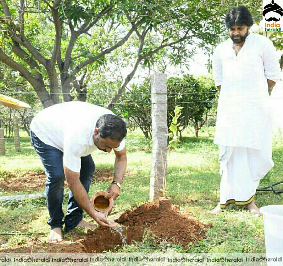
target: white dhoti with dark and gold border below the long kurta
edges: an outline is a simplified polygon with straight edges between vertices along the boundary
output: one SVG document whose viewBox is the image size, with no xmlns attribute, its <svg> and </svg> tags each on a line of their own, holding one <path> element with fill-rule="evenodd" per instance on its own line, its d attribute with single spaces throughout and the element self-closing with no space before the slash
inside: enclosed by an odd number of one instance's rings
<svg viewBox="0 0 283 266">
<path fill-rule="evenodd" d="M 260 150 L 219 145 L 221 208 L 252 202 L 259 181 L 274 166 L 270 124 L 268 119 Z"/>
</svg>

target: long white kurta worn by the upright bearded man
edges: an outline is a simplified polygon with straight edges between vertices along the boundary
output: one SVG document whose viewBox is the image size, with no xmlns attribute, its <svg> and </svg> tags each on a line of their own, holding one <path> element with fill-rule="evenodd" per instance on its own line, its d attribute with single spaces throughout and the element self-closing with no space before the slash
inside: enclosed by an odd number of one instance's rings
<svg viewBox="0 0 283 266">
<path fill-rule="evenodd" d="M 213 56 L 215 85 L 221 85 L 214 143 L 261 149 L 269 114 L 267 79 L 278 81 L 279 61 L 268 38 L 250 33 L 236 56 L 229 38 Z"/>
</svg>

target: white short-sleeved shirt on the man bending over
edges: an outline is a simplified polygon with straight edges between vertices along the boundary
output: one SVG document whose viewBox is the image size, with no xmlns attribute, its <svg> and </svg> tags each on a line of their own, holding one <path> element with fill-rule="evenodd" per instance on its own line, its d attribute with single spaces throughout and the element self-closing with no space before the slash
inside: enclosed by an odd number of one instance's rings
<svg viewBox="0 0 283 266">
<path fill-rule="evenodd" d="M 66 102 L 43 109 L 31 121 L 30 129 L 45 144 L 62 152 L 64 165 L 79 173 L 80 157 L 91 154 L 96 146 L 93 134 L 98 118 L 110 110 L 86 102 Z M 125 147 L 123 139 L 115 151 Z"/>
</svg>

